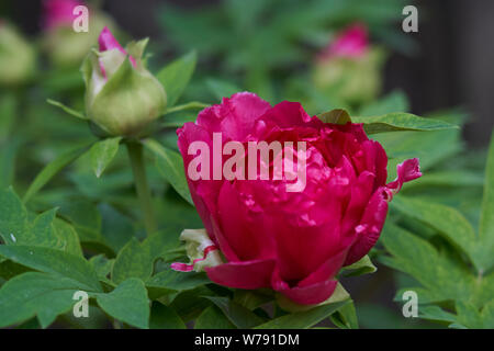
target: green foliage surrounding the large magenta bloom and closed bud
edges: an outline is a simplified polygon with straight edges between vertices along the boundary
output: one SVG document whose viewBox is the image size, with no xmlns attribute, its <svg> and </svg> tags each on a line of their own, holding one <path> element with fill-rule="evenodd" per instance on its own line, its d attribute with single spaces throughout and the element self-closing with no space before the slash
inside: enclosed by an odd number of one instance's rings
<svg viewBox="0 0 494 351">
<path fill-rule="evenodd" d="M 49 67 L 33 87 L 0 88 L 0 327 L 428 326 L 366 302 L 374 291 L 366 291 L 367 285 L 359 287 L 366 294 L 350 298 L 338 284 L 326 302 L 300 306 L 271 290 L 227 288 L 204 272 L 170 269 L 172 262 L 188 261 L 181 230 L 203 227 L 175 129 L 194 122 L 199 110 L 249 90 L 271 104 L 300 101 L 327 123 L 362 123 L 389 156 L 389 180 L 396 165 L 418 157 L 424 176 L 393 199 L 382 247 L 370 256 L 393 269 L 386 276 L 396 278 L 396 302 L 405 291 L 418 294 L 422 319 L 451 328 L 494 328 L 494 138 L 483 174 L 485 156 L 464 151 L 457 127 L 467 122 L 461 111 L 419 117 L 409 113 L 401 91 L 351 105 L 311 82 L 317 53 L 356 20 L 368 24 L 377 46 L 413 52 L 409 36 L 396 32 L 404 4 L 223 0 L 187 12 L 167 4 L 159 14 L 169 42 L 164 47 L 189 54 L 157 70 L 167 110 L 139 137 L 112 138 L 93 124 L 88 127 L 77 68 Z M 132 72 L 130 61 L 124 68 Z M 119 152 L 130 143 L 146 150 L 137 155 L 138 171 L 147 177 L 158 228 L 147 236 L 143 219 L 148 212 L 139 208 L 135 191 L 139 182 Z M 375 270 L 366 256 L 344 268 L 338 280 L 345 284 Z M 88 320 L 72 316 L 78 291 L 89 295 Z"/>
</svg>

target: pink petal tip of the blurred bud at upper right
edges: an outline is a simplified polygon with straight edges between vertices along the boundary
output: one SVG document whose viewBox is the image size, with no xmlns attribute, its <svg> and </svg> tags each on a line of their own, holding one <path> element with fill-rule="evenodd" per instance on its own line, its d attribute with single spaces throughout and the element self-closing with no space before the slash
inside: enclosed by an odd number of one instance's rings
<svg viewBox="0 0 494 351">
<path fill-rule="evenodd" d="M 358 58 L 364 55 L 368 48 L 367 26 L 362 23 L 355 23 L 337 35 L 336 39 L 322 53 L 321 58 Z"/>
</svg>

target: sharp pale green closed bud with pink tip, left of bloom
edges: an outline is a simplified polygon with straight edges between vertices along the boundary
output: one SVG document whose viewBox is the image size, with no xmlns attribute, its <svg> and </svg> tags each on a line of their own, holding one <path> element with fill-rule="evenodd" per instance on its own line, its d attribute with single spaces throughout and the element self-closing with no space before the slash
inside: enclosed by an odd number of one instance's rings
<svg viewBox="0 0 494 351">
<path fill-rule="evenodd" d="M 164 87 L 142 59 L 147 39 L 124 49 L 105 27 L 99 44 L 81 68 L 87 115 L 110 135 L 138 136 L 167 106 Z"/>
</svg>

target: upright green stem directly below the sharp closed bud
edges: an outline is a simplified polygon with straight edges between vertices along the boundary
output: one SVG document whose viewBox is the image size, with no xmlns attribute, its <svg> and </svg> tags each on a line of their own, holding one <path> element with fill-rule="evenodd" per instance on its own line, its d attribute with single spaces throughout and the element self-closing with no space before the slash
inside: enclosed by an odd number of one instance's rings
<svg viewBox="0 0 494 351">
<path fill-rule="evenodd" d="M 146 227 L 147 235 L 149 236 L 156 231 L 156 222 L 149 185 L 147 184 L 146 168 L 143 160 L 143 145 L 136 141 L 128 141 L 126 145 L 128 158 L 131 159 L 132 171 L 134 173 L 137 197 L 141 203 L 141 210 L 143 211 L 144 226 Z"/>
</svg>

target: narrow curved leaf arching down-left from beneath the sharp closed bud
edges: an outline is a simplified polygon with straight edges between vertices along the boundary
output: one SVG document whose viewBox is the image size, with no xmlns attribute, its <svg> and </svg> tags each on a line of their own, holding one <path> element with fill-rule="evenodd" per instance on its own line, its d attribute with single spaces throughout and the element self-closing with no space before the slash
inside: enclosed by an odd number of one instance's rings
<svg viewBox="0 0 494 351">
<path fill-rule="evenodd" d="M 92 144 L 92 143 L 91 143 Z M 43 170 L 36 176 L 34 181 L 31 183 L 30 188 L 22 199 L 23 203 L 29 202 L 44 185 L 46 185 L 49 180 L 55 177 L 61 169 L 76 160 L 89 148 L 89 145 L 83 145 L 82 147 L 75 148 L 68 152 L 58 156 L 55 160 L 49 162 L 43 168 Z"/>
</svg>

